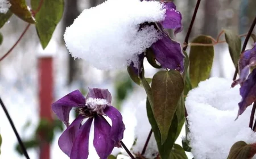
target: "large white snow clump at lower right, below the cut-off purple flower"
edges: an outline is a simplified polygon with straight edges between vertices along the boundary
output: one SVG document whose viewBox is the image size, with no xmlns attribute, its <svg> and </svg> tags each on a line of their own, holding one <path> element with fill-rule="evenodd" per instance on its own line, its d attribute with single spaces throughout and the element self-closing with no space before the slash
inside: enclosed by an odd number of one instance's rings
<svg viewBox="0 0 256 159">
<path fill-rule="evenodd" d="M 188 93 L 188 137 L 195 158 L 226 159 L 237 141 L 256 143 L 256 133 L 249 128 L 251 106 L 234 121 L 241 96 L 239 87 L 230 88 L 231 83 L 212 77 Z"/>
</svg>

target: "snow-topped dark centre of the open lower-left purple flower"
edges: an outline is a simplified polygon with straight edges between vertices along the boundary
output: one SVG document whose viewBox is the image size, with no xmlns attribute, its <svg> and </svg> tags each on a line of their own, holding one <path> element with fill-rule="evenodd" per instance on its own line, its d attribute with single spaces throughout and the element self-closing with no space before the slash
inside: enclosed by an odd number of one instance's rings
<svg viewBox="0 0 256 159">
<path fill-rule="evenodd" d="M 88 98 L 86 100 L 85 106 L 81 106 L 77 108 L 76 112 L 79 115 L 84 116 L 85 118 L 90 118 L 94 115 L 105 115 L 104 109 L 108 105 L 108 101 L 106 99 L 99 98 Z"/>
</svg>

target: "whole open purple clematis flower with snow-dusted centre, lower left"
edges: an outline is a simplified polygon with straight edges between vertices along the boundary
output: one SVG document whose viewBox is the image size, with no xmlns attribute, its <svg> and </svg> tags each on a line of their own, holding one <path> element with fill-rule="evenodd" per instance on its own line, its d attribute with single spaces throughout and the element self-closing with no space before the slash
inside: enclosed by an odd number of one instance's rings
<svg viewBox="0 0 256 159">
<path fill-rule="evenodd" d="M 89 88 L 86 98 L 79 90 L 75 90 L 52 104 L 53 112 L 67 125 L 59 138 L 59 147 L 71 159 L 88 158 L 89 133 L 93 119 L 93 145 L 98 156 L 107 159 L 114 147 L 121 147 L 125 125 L 120 112 L 110 105 L 111 99 L 107 89 Z M 69 125 L 69 112 L 72 107 L 76 107 L 79 116 Z M 112 126 L 103 115 L 112 120 Z M 88 119 L 81 124 L 85 118 Z"/>
</svg>

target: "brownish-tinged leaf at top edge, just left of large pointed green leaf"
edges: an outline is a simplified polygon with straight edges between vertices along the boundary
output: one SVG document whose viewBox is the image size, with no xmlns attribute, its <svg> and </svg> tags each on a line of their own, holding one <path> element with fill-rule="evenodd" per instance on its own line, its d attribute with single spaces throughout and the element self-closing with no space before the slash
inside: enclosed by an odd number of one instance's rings
<svg viewBox="0 0 256 159">
<path fill-rule="evenodd" d="M 11 3 L 10 10 L 18 16 L 20 19 L 24 20 L 28 23 L 35 23 L 35 19 L 33 18 L 30 10 L 28 10 L 28 6 L 26 0 L 9 0 Z"/>
</svg>

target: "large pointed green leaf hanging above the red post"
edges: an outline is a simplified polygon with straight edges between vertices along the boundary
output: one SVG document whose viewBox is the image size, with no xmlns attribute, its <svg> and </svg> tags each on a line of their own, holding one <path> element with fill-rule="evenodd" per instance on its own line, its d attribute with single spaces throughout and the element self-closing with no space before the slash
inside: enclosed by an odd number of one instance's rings
<svg viewBox="0 0 256 159">
<path fill-rule="evenodd" d="M 40 0 L 31 0 L 33 10 L 39 6 Z M 52 34 L 60 22 L 64 11 L 64 0 L 44 0 L 40 11 L 36 14 L 36 31 L 43 49 L 47 47 Z"/>
</svg>

